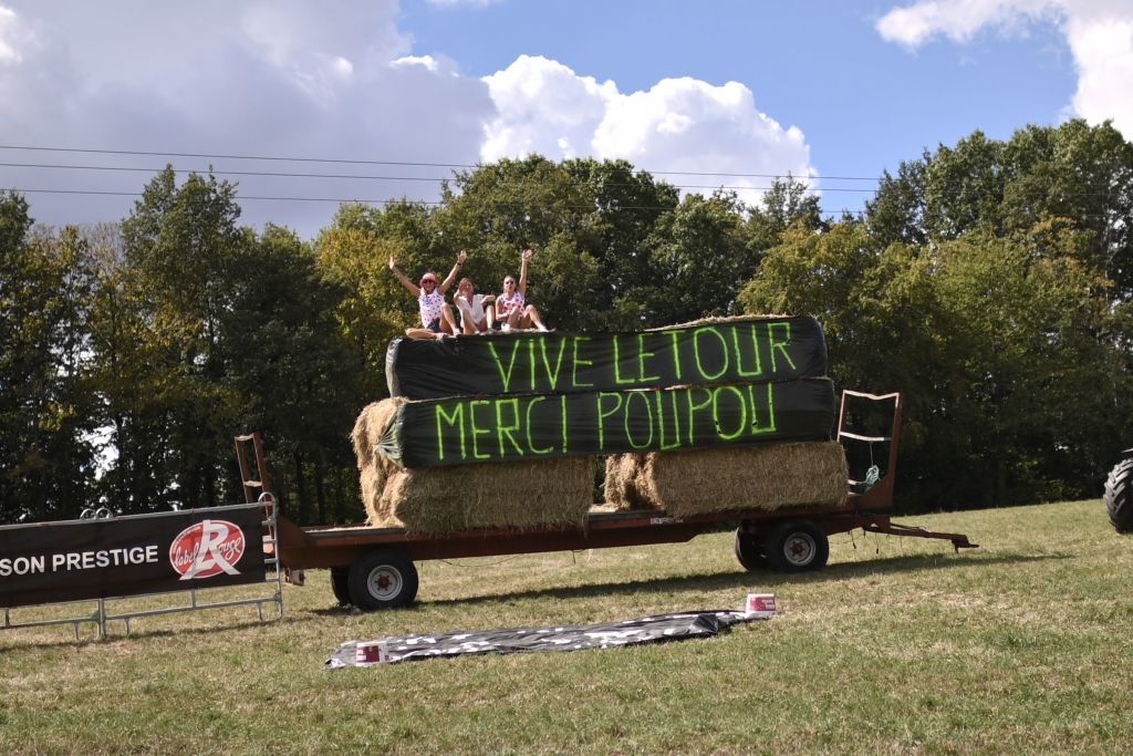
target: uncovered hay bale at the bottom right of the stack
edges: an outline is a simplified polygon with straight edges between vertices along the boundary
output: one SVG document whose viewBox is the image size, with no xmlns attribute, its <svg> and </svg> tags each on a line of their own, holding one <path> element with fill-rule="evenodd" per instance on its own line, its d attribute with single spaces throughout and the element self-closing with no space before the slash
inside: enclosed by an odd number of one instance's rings
<svg viewBox="0 0 1133 756">
<path fill-rule="evenodd" d="M 622 475 L 625 469 L 621 470 Z M 673 517 L 784 507 L 842 507 L 849 468 L 836 441 L 654 452 L 632 490 Z"/>
</svg>

